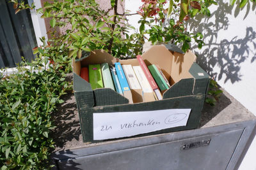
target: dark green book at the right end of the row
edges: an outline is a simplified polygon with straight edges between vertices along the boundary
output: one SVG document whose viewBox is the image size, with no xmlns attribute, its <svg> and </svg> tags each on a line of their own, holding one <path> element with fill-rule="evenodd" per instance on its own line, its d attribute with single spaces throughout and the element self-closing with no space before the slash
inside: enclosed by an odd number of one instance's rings
<svg viewBox="0 0 256 170">
<path fill-rule="evenodd" d="M 157 67 L 154 64 L 148 66 L 148 69 L 149 69 L 150 73 L 152 74 L 154 80 L 157 83 L 157 86 L 159 87 L 159 89 L 161 91 L 169 89 L 167 83 L 164 81 L 163 76 L 161 75 L 161 73 L 159 72 L 159 70 L 157 69 Z"/>
</svg>

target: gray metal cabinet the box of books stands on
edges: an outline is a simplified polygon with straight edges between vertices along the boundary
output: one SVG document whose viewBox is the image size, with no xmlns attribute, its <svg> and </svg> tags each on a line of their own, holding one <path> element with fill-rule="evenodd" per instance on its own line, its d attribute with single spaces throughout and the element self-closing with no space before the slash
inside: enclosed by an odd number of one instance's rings
<svg viewBox="0 0 256 170">
<path fill-rule="evenodd" d="M 227 96 L 230 103 L 214 109 L 218 114 L 209 117 L 204 110 L 202 118 L 211 120 L 199 129 L 94 144 L 81 142 L 80 135 L 52 154 L 54 168 L 237 169 L 255 135 L 256 120 Z"/>
</svg>

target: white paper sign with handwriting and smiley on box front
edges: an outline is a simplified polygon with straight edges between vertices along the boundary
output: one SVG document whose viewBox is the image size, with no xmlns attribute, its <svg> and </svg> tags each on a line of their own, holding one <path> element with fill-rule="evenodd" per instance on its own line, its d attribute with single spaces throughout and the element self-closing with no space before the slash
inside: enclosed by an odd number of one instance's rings
<svg viewBox="0 0 256 170">
<path fill-rule="evenodd" d="M 93 113 L 93 139 L 113 139 L 185 126 L 191 109 Z"/>
</svg>

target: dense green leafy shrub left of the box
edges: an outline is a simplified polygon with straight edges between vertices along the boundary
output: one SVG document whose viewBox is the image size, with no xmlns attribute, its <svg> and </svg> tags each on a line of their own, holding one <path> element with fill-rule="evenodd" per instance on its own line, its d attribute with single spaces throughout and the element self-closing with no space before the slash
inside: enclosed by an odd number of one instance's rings
<svg viewBox="0 0 256 170">
<path fill-rule="evenodd" d="M 46 61 L 45 61 L 46 62 Z M 21 66 L 28 65 L 22 63 Z M 0 78 L 1 169 L 44 169 L 54 142 L 51 112 L 69 88 L 65 74 L 45 69 L 42 61 L 17 67 Z"/>
</svg>

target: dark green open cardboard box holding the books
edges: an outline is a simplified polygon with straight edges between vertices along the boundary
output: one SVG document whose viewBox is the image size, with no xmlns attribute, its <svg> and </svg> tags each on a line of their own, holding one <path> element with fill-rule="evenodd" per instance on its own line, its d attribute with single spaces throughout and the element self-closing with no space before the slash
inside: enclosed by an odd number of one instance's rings
<svg viewBox="0 0 256 170">
<path fill-rule="evenodd" d="M 184 54 L 172 52 L 165 46 L 157 45 L 152 46 L 147 52 L 143 53 L 141 57 L 147 66 L 150 64 L 159 65 L 163 70 L 166 78 L 170 81 L 171 87 L 163 93 L 163 100 L 129 104 L 128 99 L 112 89 L 104 88 L 92 90 L 90 83 L 83 80 L 83 78 L 79 76 L 79 73 L 81 67 L 88 66 L 88 64 L 101 64 L 108 62 L 109 66 L 113 66 L 113 64 L 116 62 L 116 59 L 104 50 L 95 50 L 94 52 L 90 53 L 90 56 L 83 57 L 77 61 L 73 61 L 72 67 L 74 72 L 74 93 L 76 96 L 77 109 L 79 110 L 80 125 L 84 142 L 101 141 L 99 138 L 95 138 L 95 134 L 97 133 L 95 133 L 96 127 L 94 126 L 97 123 L 95 120 L 93 120 L 93 117 L 95 119 L 102 113 L 108 113 L 110 116 L 111 113 L 118 113 L 120 115 L 123 113 L 124 115 L 133 115 L 132 113 L 136 113 L 138 114 L 138 117 L 140 117 L 144 114 L 145 111 L 148 111 L 147 114 L 149 115 L 159 113 L 159 117 L 161 117 L 161 114 L 164 110 L 179 111 L 182 109 L 191 109 L 189 111 L 188 120 L 186 120 L 186 124 L 184 125 L 178 125 L 177 127 L 174 125 L 170 128 L 162 127 L 163 129 L 150 132 L 141 131 L 142 134 L 138 132 L 139 134 L 136 135 L 131 135 L 131 133 L 125 136 L 125 134 L 122 134 L 123 136 L 120 135 L 120 138 L 129 136 L 147 136 L 150 134 L 182 131 L 186 129 L 195 129 L 198 127 L 202 108 L 204 105 L 205 94 L 207 93 L 207 88 L 209 86 L 209 75 L 205 73 L 205 71 L 200 66 L 198 66 L 198 64 L 196 64 L 195 54 L 193 54 L 191 51 Z M 121 64 L 139 66 L 137 59 L 119 60 L 119 62 Z M 121 119 L 116 119 L 117 117 L 114 115 L 115 114 L 113 114 L 113 122 L 122 122 Z M 102 119 L 103 118 L 104 117 L 102 117 Z M 132 116 L 130 118 L 132 119 Z M 130 126 L 132 127 L 132 125 L 136 128 L 140 127 L 141 125 L 140 129 L 149 128 L 147 127 L 148 124 L 141 122 L 139 124 L 139 122 L 136 122 L 135 119 L 131 125 L 127 125 L 127 128 Z M 150 122 L 149 125 L 152 125 L 152 122 Z M 121 124 L 121 128 L 124 128 L 124 124 Z M 115 131 L 114 129 L 114 127 L 106 124 L 106 127 L 103 127 L 102 125 L 101 130 L 109 130 L 106 133 L 115 133 L 116 129 Z M 131 131 L 131 129 L 132 128 L 130 128 L 129 131 Z M 133 131 L 137 130 L 134 128 Z M 116 133 L 119 132 L 116 131 Z M 109 139 L 116 138 L 118 137 L 109 137 Z M 102 137 L 102 139 L 105 140 L 108 139 L 108 137 Z"/>
</svg>

